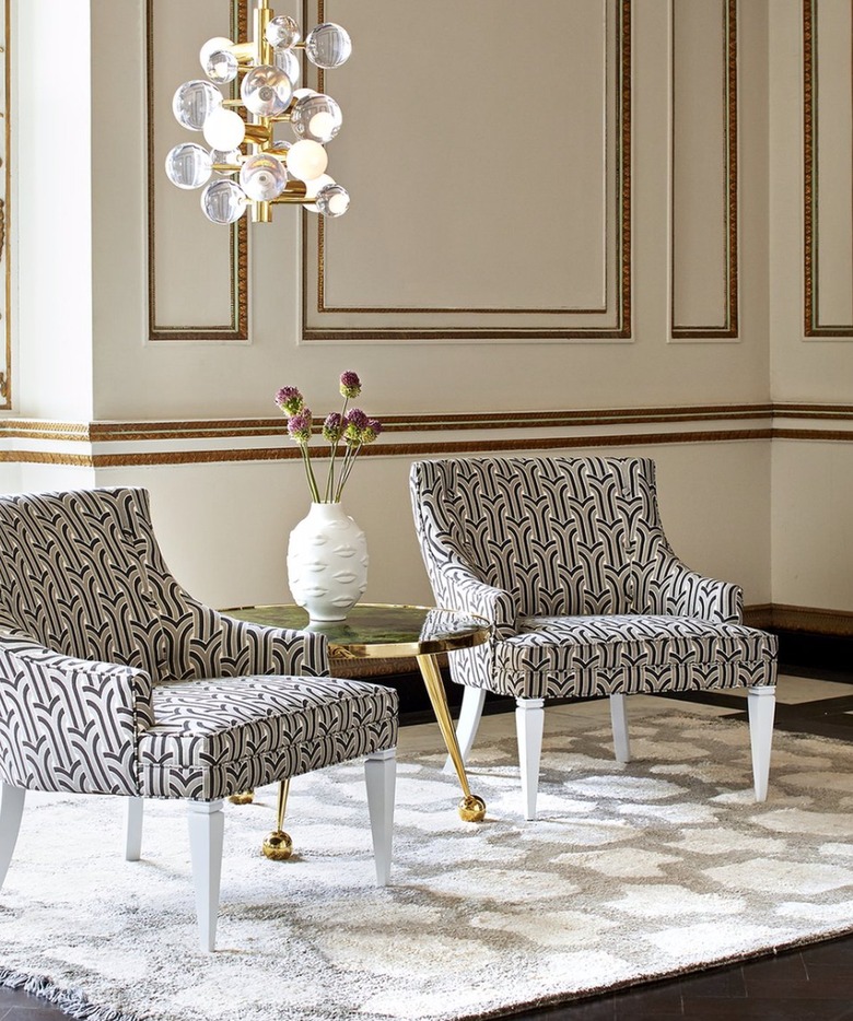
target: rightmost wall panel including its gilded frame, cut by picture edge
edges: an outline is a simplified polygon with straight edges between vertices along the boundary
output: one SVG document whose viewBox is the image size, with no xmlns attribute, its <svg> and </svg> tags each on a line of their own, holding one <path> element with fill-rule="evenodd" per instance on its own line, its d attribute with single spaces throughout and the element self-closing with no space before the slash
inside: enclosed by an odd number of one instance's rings
<svg viewBox="0 0 853 1021">
<path fill-rule="evenodd" d="M 803 0 L 806 337 L 853 337 L 853 11 Z"/>
</svg>

